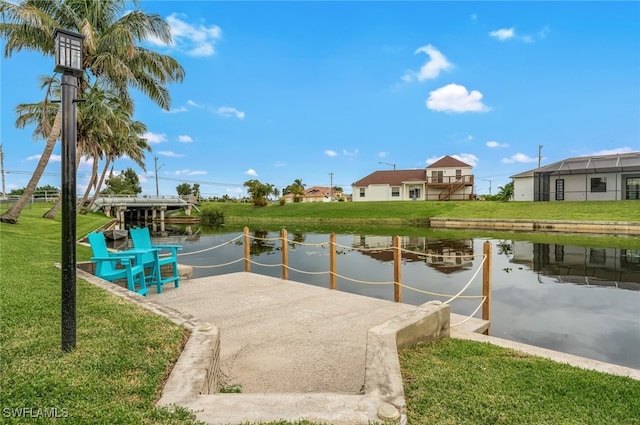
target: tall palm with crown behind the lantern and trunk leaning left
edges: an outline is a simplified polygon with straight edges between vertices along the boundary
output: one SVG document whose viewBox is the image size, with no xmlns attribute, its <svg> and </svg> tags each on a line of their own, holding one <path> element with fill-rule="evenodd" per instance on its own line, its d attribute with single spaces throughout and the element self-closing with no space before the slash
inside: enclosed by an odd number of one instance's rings
<svg viewBox="0 0 640 425">
<path fill-rule="evenodd" d="M 138 43 L 155 38 L 171 42 L 171 30 L 157 14 L 128 11 L 137 1 L 128 0 L 0 0 L 0 37 L 6 40 L 5 57 L 22 49 L 44 55 L 54 53 L 56 28 L 77 31 L 83 39 L 83 68 L 79 93 L 89 80 L 113 89 L 124 102 L 131 102 L 130 88 L 146 94 L 163 109 L 169 109 L 171 97 L 165 87 L 181 82 L 184 70 L 170 56 L 144 49 Z M 60 137 L 59 117 L 46 134 L 47 144 L 25 192 L 0 221 L 16 223 L 33 194 Z"/>
</svg>

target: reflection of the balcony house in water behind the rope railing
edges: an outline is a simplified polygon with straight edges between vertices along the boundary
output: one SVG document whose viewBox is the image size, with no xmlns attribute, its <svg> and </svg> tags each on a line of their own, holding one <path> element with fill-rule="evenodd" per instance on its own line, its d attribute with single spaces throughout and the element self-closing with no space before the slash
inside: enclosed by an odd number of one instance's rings
<svg viewBox="0 0 640 425">
<path fill-rule="evenodd" d="M 442 240 L 419 236 L 401 236 L 400 246 L 403 249 L 402 261 L 424 262 L 442 273 L 450 274 L 469 270 L 473 266 L 473 239 Z M 359 252 L 375 260 L 393 261 L 393 238 L 391 236 L 354 236 L 353 247 L 367 249 Z M 380 250 L 375 248 L 380 248 Z"/>
</svg>

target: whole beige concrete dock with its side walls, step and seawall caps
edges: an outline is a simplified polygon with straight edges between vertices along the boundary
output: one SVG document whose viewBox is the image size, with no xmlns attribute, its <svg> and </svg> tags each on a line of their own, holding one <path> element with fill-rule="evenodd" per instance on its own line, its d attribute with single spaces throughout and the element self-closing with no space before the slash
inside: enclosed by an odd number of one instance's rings
<svg viewBox="0 0 640 425">
<path fill-rule="evenodd" d="M 159 404 L 187 407 L 208 424 L 404 423 L 398 347 L 449 336 L 450 323 L 462 321 L 448 306 L 394 303 L 252 273 L 183 280 L 147 297 L 78 273 L 192 330 Z M 640 379 L 633 369 L 476 333 L 486 325 L 471 319 L 450 334 Z M 241 393 L 216 393 L 232 388 Z"/>
</svg>

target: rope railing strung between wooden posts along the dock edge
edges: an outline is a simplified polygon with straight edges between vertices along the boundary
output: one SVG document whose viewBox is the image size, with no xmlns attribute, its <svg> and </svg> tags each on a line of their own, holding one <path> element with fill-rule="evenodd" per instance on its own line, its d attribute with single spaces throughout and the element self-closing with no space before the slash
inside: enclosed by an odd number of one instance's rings
<svg viewBox="0 0 640 425">
<path fill-rule="evenodd" d="M 329 288 L 330 289 L 336 289 L 337 288 L 337 279 L 342 279 L 344 281 L 347 282 L 353 282 L 353 283 L 357 283 L 357 284 L 362 284 L 362 285 L 393 285 L 394 287 L 394 301 L 396 302 L 402 302 L 402 289 L 406 288 L 408 290 L 417 292 L 417 293 L 421 293 L 421 294 L 425 294 L 425 295 L 429 295 L 429 296 L 434 296 L 434 297 L 439 297 L 439 298 L 446 298 L 445 301 L 442 301 L 443 304 L 451 304 L 453 301 L 457 300 L 457 299 L 481 299 L 480 304 L 475 308 L 475 310 L 468 315 L 464 320 L 462 320 L 459 323 L 453 324 L 451 325 L 453 326 L 458 326 L 461 325 L 465 322 L 467 322 L 468 320 L 470 320 L 472 317 L 474 317 L 476 315 L 476 313 L 478 313 L 478 311 L 480 309 L 482 309 L 482 319 L 483 320 L 487 320 L 490 321 L 491 320 L 491 243 L 490 242 L 485 242 L 484 246 L 483 246 L 483 253 L 482 254 L 433 254 L 433 253 L 427 253 L 427 252 L 421 252 L 421 251 L 413 251 L 413 250 L 409 250 L 406 248 L 403 248 L 401 246 L 400 243 L 400 237 L 399 236 L 395 236 L 393 238 L 393 246 L 391 247 L 375 247 L 375 248 L 366 248 L 366 247 L 354 247 L 354 246 L 346 246 L 346 245 L 341 245 L 338 244 L 336 242 L 336 235 L 335 233 L 332 233 L 330 235 L 330 240 L 329 242 L 321 242 L 321 243 L 306 243 L 306 242 L 301 242 L 301 241 L 295 241 L 295 240 L 289 240 L 288 238 L 288 234 L 287 234 L 287 230 L 286 229 L 282 229 L 281 234 L 279 237 L 275 237 L 275 238 L 268 238 L 268 237 L 262 237 L 262 236 L 252 236 L 249 233 L 249 228 L 245 227 L 244 228 L 244 232 L 242 235 L 239 235 L 235 238 L 232 238 L 228 241 L 222 242 L 216 246 L 213 247 L 209 247 L 209 248 L 205 248 L 205 249 L 201 249 L 198 251 L 192 251 L 192 252 L 187 252 L 187 253 L 182 253 L 182 254 L 178 254 L 181 256 L 186 256 L 186 255 L 193 255 L 193 254 L 200 254 L 203 252 L 207 252 L 207 251 L 212 251 L 215 249 L 220 249 L 223 248 L 227 245 L 229 245 L 230 243 L 233 243 L 235 241 L 238 241 L 240 239 L 243 239 L 242 245 L 244 245 L 244 255 L 243 257 L 237 259 L 237 260 L 233 260 L 224 264 L 217 264 L 217 265 L 207 265 L 207 266 L 197 266 L 197 265 L 191 265 L 191 267 L 194 268 L 216 268 L 216 267 L 224 267 L 224 266 L 228 266 L 228 265 L 232 265 L 232 264 L 236 264 L 238 262 L 244 261 L 245 264 L 245 271 L 246 272 L 251 272 L 251 265 L 256 265 L 256 266 L 260 266 L 260 267 L 281 267 L 282 268 L 282 279 L 284 280 L 288 280 L 289 278 L 289 271 L 294 271 L 297 273 L 301 273 L 301 274 L 306 274 L 306 275 L 323 275 L 323 274 L 328 274 L 329 275 Z M 282 259 L 281 262 L 278 264 L 266 264 L 266 263 L 261 263 L 258 261 L 255 261 L 254 259 L 251 258 L 251 247 L 252 247 L 252 242 L 254 241 L 260 241 L 260 242 L 273 242 L 274 244 L 276 242 L 280 242 L 281 244 L 281 255 L 282 255 Z M 238 243 L 239 245 L 239 243 Z M 312 272 L 312 271 L 305 271 L 305 270 L 299 270 L 296 269 L 294 267 L 291 267 L 289 265 L 289 246 L 296 246 L 296 245 L 300 245 L 300 246 L 306 246 L 306 247 L 321 247 L 321 248 L 328 248 L 329 249 L 329 270 L 328 271 L 318 271 L 318 272 Z M 294 248 L 295 249 L 295 248 Z M 339 273 L 337 273 L 337 261 L 336 261 L 336 252 L 337 250 L 340 249 L 342 251 L 348 250 L 348 251 L 358 251 L 358 252 L 387 252 L 387 251 L 393 251 L 393 280 L 392 281 L 368 281 L 368 280 L 361 280 L 361 279 L 356 279 L 353 277 L 348 277 L 348 276 L 343 276 Z M 438 258 L 438 259 L 451 259 L 451 258 L 455 258 L 456 260 L 460 259 L 461 261 L 465 261 L 465 260 L 472 260 L 475 258 L 482 258 L 482 261 L 480 262 L 479 266 L 476 268 L 476 270 L 474 271 L 473 275 L 471 276 L 471 278 L 469 279 L 469 281 L 462 287 L 462 289 L 460 289 L 457 293 L 455 294 L 443 294 L 443 293 L 437 293 L 437 292 L 433 292 L 433 291 L 427 291 L 424 289 L 420 289 L 415 287 L 415 285 L 408 285 L 407 283 L 404 283 L 402 281 L 402 263 L 403 263 L 403 254 L 405 255 L 413 255 L 413 256 L 419 256 L 419 257 L 424 257 L 424 258 Z M 480 272 L 482 272 L 482 295 L 463 295 L 466 291 L 469 290 L 469 287 L 471 286 L 471 284 L 476 280 L 476 278 L 478 277 L 478 275 L 480 274 Z M 485 331 L 485 333 L 488 333 L 488 330 Z"/>
</svg>

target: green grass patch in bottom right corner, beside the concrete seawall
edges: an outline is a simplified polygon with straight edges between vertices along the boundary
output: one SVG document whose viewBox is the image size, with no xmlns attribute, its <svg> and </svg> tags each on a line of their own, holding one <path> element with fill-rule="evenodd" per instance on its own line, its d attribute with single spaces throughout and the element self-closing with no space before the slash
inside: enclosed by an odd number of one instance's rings
<svg viewBox="0 0 640 425">
<path fill-rule="evenodd" d="M 640 424 L 640 381 L 487 343 L 400 353 L 410 424 Z"/>
</svg>

